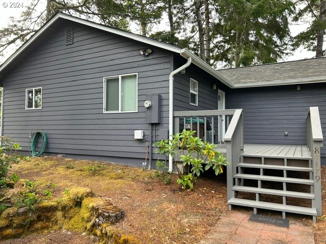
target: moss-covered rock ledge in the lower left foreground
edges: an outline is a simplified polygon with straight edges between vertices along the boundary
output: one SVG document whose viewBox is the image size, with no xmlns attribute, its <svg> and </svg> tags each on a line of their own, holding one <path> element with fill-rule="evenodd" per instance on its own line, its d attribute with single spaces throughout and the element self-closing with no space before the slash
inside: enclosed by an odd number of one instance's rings
<svg viewBox="0 0 326 244">
<path fill-rule="evenodd" d="M 105 198 L 92 195 L 89 188 L 74 187 L 65 197 L 35 204 L 33 210 L 10 207 L 0 216 L 0 239 L 63 227 L 87 231 L 105 241 L 103 243 L 139 243 L 113 227 L 124 218 L 124 210 Z"/>
</svg>

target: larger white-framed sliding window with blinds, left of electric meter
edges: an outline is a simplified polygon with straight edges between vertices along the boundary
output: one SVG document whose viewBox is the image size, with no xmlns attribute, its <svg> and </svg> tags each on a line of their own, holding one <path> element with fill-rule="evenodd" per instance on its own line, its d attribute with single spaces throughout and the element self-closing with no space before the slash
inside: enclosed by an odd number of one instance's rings
<svg viewBox="0 0 326 244">
<path fill-rule="evenodd" d="M 137 74 L 104 77 L 104 113 L 137 112 Z"/>
</svg>

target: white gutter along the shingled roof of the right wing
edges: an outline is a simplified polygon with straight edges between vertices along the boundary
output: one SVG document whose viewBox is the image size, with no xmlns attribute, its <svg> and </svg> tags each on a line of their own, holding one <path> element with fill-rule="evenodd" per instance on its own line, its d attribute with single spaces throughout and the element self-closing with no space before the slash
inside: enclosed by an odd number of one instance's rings
<svg viewBox="0 0 326 244">
<path fill-rule="evenodd" d="M 243 83 L 234 84 L 232 88 L 250 88 L 250 87 L 263 87 L 263 86 L 278 86 L 278 85 L 298 85 L 298 84 L 309 84 L 309 83 L 322 83 L 326 82 L 326 76 L 321 77 L 309 77 L 300 79 L 289 79 L 289 80 L 275 80 L 266 82 L 255 82 L 255 83 Z"/>
</svg>

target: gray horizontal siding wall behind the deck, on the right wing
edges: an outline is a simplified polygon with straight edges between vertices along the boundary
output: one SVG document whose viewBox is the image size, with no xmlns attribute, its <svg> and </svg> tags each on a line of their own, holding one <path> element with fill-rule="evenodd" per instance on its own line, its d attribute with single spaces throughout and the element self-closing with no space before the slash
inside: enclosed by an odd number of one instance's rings
<svg viewBox="0 0 326 244">
<path fill-rule="evenodd" d="M 243 108 L 245 143 L 306 144 L 311 106 L 319 107 L 326 138 L 325 83 L 303 84 L 299 91 L 296 85 L 229 89 L 226 99 L 227 108 Z M 321 154 L 326 157 L 326 146 Z"/>
</svg>

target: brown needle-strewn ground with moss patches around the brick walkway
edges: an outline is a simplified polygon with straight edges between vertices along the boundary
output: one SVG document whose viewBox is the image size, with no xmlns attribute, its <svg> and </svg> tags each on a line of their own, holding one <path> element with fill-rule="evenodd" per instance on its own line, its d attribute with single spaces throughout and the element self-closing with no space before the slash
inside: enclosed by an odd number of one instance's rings
<svg viewBox="0 0 326 244">
<path fill-rule="evenodd" d="M 172 175 L 171 185 L 165 185 L 154 171 L 95 161 L 41 157 L 21 162 L 12 171 L 21 178 L 35 180 L 41 189 L 56 184 L 51 190 L 52 198 L 73 186 L 91 188 L 96 196 L 108 198 L 125 210 L 126 217 L 117 228 L 144 244 L 198 243 L 228 208 L 225 174 L 218 177 L 206 174 L 198 179 L 194 191 L 183 191 L 176 185 L 176 175 Z M 325 171 L 323 167 L 322 189 L 326 189 Z M 322 201 L 326 214 L 324 190 Z M 312 224 L 310 217 L 288 215 L 287 218 Z M 313 226 L 316 243 L 326 243 L 326 216 L 318 217 Z M 0 243 L 86 244 L 97 240 L 83 232 L 49 230 Z"/>
</svg>

